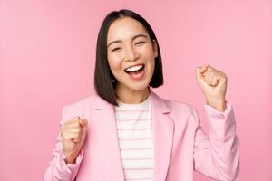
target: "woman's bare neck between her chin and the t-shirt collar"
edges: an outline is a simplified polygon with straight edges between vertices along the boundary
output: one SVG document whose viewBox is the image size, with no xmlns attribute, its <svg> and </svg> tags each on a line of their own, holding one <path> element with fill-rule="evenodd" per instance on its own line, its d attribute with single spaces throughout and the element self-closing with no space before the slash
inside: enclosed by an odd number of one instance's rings
<svg viewBox="0 0 272 181">
<path fill-rule="evenodd" d="M 144 90 L 130 90 L 116 86 L 118 100 L 127 104 L 139 104 L 146 100 L 150 95 L 150 89 L 147 87 Z"/>
</svg>

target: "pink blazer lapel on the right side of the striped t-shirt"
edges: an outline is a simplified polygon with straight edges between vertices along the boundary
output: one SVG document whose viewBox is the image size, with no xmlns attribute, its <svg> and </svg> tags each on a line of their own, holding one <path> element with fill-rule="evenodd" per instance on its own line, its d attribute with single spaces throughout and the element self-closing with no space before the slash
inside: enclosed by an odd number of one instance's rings
<svg viewBox="0 0 272 181">
<path fill-rule="evenodd" d="M 155 153 L 154 180 L 165 181 L 170 164 L 174 123 L 164 100 L 152 91 L 151 106 Z"/>
</svg>

